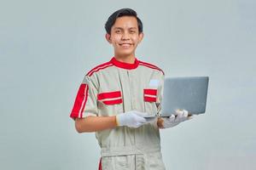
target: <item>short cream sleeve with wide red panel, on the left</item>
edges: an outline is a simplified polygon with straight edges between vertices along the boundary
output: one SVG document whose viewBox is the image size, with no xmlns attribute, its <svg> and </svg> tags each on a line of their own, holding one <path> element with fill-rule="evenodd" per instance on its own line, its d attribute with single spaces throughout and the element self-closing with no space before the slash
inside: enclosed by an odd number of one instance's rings
<svg viewBox="0 0 256 170">
<path fill-rule="evenodd" d="M 98 116 L 97 93 L 96 85 L 90 77 L 85 76 L 79 86 L 70 117 L 75 120 L 77 117 Z"/>
</svg>

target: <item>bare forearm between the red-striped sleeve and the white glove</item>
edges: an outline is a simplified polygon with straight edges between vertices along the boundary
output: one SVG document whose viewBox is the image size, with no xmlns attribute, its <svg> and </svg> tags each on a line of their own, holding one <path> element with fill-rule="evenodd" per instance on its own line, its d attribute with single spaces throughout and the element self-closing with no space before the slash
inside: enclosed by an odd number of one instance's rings
<svg viewBox="0 0 256 170">
<path fill-rule="evenodd" d="M 116 116 L 87 116 L 75 119 L 78 133 L 89 133 L 117 127 Z"/>
</svg>

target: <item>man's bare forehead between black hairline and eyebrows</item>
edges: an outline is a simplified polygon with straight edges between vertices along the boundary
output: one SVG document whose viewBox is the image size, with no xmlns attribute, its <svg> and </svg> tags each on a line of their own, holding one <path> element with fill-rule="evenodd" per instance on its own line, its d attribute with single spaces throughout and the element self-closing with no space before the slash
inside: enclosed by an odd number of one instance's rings
<svg viewBox="0 0 256 170">
<path fill-rule="evenodd" d="M 122 16 L 115 20 L 113 26 L 113 29 L 117 28 L 123 28 L 123 29 L 130 29 L 130 28 L 136 28 L 137 26 L 137 19 L 134 16 Z"/>
</svg>

